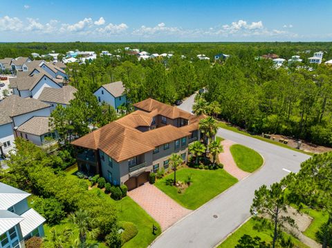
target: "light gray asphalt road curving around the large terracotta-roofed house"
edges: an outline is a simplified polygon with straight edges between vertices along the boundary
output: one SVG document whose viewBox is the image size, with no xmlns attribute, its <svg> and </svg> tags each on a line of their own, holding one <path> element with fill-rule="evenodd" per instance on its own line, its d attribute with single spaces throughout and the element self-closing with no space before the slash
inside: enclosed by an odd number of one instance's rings
<svg viewBox="0 0 332 248">
<path fill-rule="evenodd" d="M 191 111 L 193 96 L 180 108 Z M 299 171 L 299 164 L 308 155 L 263 142 L 246 135 L 219 128 L 217 135 L 255 149 L 265 159 L 265 165 L 235 184 L 210 202 L 196 209 L 163 232 L 151 244 L 154 248 L 214 247 L 250 217 L 249 209 L 255 189 L 281 180 L 289 171 Z M 215 218 L 216 217 L 216 218 Z"/>
</svg>

